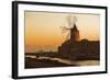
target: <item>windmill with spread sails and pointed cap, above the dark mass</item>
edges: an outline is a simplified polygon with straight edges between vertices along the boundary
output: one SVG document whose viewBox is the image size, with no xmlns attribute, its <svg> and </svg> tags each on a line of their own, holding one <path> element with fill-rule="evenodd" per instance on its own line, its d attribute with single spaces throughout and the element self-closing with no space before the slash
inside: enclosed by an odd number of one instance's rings
<svg viewBox="0 0 110 80">
<path fill-rule="evenodd" d="M 69 37 L 72 42 L 78 41 L 79 31 L 77 30 L 77 26 L 76 26 L 77 18 L 68 15 L 66 20 L 67 20 L 68 27 L 61 26 L 62 33 L 67 33 L 65 41 L 67 41 Z"/>
</svg>

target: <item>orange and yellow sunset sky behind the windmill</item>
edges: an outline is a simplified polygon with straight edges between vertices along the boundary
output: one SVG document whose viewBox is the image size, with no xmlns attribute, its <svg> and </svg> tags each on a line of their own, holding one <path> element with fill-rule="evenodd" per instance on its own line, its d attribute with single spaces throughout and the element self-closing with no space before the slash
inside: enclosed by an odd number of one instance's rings
<svg viewBox="0 0 110 80">
<path fill-rule="evenodd" d="M 61 26 L 69 27 L 66 18 L 69 13 L 25 11 L 25 53 L 38 50 L 57 50 L 65 41 L 67 33 L 62 33 Z M 99 41 L 100 15 L 77 14 L 77 28 L 80 39 Z"/>
</svg>

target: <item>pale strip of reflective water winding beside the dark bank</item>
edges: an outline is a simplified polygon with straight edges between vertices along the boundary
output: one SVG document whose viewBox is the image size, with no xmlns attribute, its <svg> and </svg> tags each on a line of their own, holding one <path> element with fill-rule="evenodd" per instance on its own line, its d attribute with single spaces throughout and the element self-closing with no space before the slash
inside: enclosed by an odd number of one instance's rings
<svg viewBox="0 0 110 80">
<path fill-rule="evenodd" d="M 59 62 L 63 64 L 67 64 L 67 65 L 78 65 L 78 66 L 97 66 L 100 65 L 99 60 L 78 60 L 78 61 L 74 61 L 74 60 L 69 60 L 69 59 L 62 59 L 62 58 L 51 58 L 51 57 L 36 57 L 36 56 L 26 56 L 30 58 L 36 58 L 36 59 L 50 59 L 50 60 L 57 60 Z"/>
</svg>

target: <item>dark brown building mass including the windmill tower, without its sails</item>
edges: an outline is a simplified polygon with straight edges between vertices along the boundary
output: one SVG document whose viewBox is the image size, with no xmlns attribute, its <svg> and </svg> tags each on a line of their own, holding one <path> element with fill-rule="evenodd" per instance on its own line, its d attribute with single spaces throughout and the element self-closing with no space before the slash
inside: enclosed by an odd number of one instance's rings
<svg viewBox="0 0 110 80">
<path fill-rule="evenodd" d="M 80 39 L 76 24 L 70 28 L 70 39 L 65 41 L 58 47 L 61 57 L 74 60 L 99 59 L 99 41 Z"/>
</svg>

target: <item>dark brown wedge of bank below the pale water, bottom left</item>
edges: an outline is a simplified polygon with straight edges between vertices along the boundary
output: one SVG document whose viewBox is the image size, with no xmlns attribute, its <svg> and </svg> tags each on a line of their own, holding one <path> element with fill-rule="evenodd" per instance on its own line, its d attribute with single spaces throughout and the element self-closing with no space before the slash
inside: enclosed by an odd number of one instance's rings
<svg viewBox="0 0 110 80">
<path fill-rule="evenodd" d="M 25 58 L 25 68 L 48 68 L 48 67 L 70 67 L 76 65 L 67 65 L 57 60 Z"/>
</svg>

